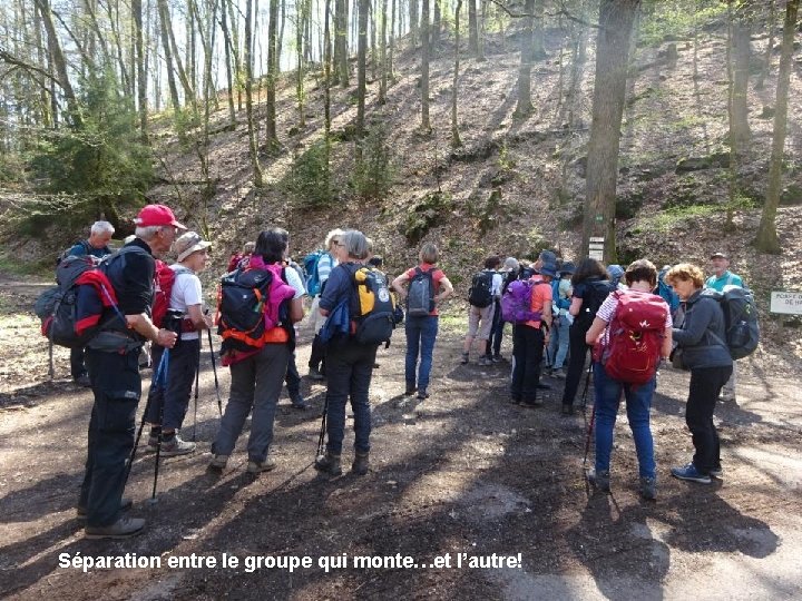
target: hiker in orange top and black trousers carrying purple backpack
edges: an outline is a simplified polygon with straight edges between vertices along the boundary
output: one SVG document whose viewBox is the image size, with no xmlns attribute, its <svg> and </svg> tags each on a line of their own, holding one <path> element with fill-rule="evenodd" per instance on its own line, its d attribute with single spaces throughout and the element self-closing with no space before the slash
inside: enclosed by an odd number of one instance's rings
<svg viewBox="0 0 802 601">
<path fill-rule="evenodd" d="M 542 405 L 537 397 L 540 383 L 540 363 L 544 345 L 549 341 L 551 326 L 551 279 L 557 276 L 557 266 L 546 263 L 539 273 L 531 276 L 530 312 L 538 316 L 512 326 L 512 376 L 510 401 L 526 407 Z"/>
</svg>

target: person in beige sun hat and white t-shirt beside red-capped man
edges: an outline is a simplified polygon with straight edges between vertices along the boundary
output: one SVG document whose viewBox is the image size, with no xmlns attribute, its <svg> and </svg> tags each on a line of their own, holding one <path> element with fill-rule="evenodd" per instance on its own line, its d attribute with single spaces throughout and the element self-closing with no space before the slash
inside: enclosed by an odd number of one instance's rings
<svg viewBox="0 0 802 601">
<path fill-rule="evenodd" d="M 168 268 L 175 273 L 175 279 L 168 305 L 184 318 L 178 342 L 170 351 L 166 386 L 150 386 L 145 415 L 145 421 L 150 424 L 148 446 L 156 450 L 160 442 L 160 454 L 165 457 L 192 453 L 196 446 L 184 441 L 178 431 L 184 424 L 193 382 L 199 368 L 199 332 L 212 327 L 212 317 L 203 312 L 203 290 L 197 277 L 208 263 L 209 246 L 212 243 L 205 242 L 196 231 L 187 231 L 173 243 L 176 263 Z M 164 347 L 154 346 L 151 353 L 154 365 L 159 365 Z"/>
</svg>

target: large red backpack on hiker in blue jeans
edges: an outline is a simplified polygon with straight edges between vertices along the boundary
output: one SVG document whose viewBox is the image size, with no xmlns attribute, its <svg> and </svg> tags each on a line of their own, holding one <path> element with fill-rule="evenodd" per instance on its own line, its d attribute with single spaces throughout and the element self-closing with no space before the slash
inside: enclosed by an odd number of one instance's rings
<svg viewBox="0 0 802 601">
<path fill-rule="evenodd" d="M 659 364 L 668 305 L 656 294 L 637 290 L 613 294 L 618 307 L 608 326 L 602 365 L 613 380 L 645 384 Z"/>
</svg>

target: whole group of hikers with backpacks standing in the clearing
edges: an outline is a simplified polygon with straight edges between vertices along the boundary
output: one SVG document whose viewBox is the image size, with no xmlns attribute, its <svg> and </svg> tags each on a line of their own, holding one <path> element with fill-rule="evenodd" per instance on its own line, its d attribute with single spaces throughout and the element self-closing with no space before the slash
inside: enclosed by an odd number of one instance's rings
<svg viewBox="0 0 802 601">
<path fill-rule="evenodd" d="M 99 297 L 91 334 L 75 343 L 71 354 L 74 378 L 88 383 L 95 396 L 77 506 L 79 516 L 86 519 L 87 538 L 127 538 L 145 525 L 143 519 L 124 513 L 131 502 L 123 492 L 139 440 L 138 435 L 135 440 L 141 394 L 139 352 L 147 341 L 153 344 L 154 375 L 143 425 L 149 424 L 148 446 L 158 453 L 157 462 L 159 455 L 196 450 L 179 432 L 193 382 L 197 386 L 203 331 L 216 325 L 222 337 L 221 363 L 231 370 L 231 391 L 225 410 L 221 407 L 209 469 L 226 466 L 248 415 L 246 470 L 256 474 L 276 466 L 270 450 L 285 382 L 292 406 L 307 408 L 295 365 L 296 324 L 304 317 L 305 297 L 311 297 L 314 331 L 309 377 L 326 382 L 325 446 L 320 447 L 316 470 L 330 475 L 343 471 L 345 405 L 350 401 L 354 430 L 351 471 L 356 475 L 369 472 L 369 396 L 376 349 L 389 343 L 401 321 L 407 337 L 404 395 L 417 395 L 421 404 L 432 395 L 438 309 L 454 293 L 439 267 L 436 244 L 423 243 L 417 265 L 390 280 L 379 269 L 382 259 L 373 255 L 372 240 L 359 230 L 332 229 L 323 249 L 307 255 L 300 266 L 290 258 L 288 233 L 277 227 L 265 229 L 232 256 L 213 319 L 204 309 L 198 278 L 207 267 L 211 243 L 188 231 L 164 205 L 144 207 L 134 236 L 115 253 L 107 246 L 113 233 L 110 224 L 98 221 L 86 243 L 62 256 L 67 259 L 63 268 L 81 256 L 100 258 L 99 265 L 92 259 L 90 267 L 84 267 L 88 272 L 70 282 L 85 290 L 76 294 L 78 314 L 81 307 L 94 306 L 81 304 L 81 295 Z M 175 263 L 167 266 L 156 257 L 170 249 Z M 588 481 L 602 491 L 610 489 L 613 431 L 623 394 L 637 450 L 639 492 L 645 499 L 655 499 L 649 406 L 659 361 L 672 356 L 691 372 L 686 423 L 695 454 L 687 465 L 673 467 L 671 473 L 710 483 L 711 477 L 722 477 L 713 413 L 722 390 L 734 398 L 734 363 L 721 298 L 705 288 L 743 287 L 728 270 L 726 255 L 715 253 L 711 260 L 714 275 L 705 279 L 700 267 L 687 263 L 658 273 L 647 259 L 625 269 L 605 268 L 591 258 L 576 265 L 564 262 L 552 250 L 541 252 L 534 263 L 489 257 L 471 280 L 461 363 L 469 364 L 475 351 L 479 365 L 506 362 L 501 342 L 506 323 L 511 323 L 510 401 L 524 407 L 541 406 L 542 390 L 550 387 L 541 376 L 550 375 L 565 380 L 561 412 L 573 415 L 593 351 L 596 460 Z M 55 317 L 57 313 L 53 311 Z M 82 331 L 78 325 L 75 328 Z M 725 388 L 727 385 L 731 387 Z"/>
</svg>

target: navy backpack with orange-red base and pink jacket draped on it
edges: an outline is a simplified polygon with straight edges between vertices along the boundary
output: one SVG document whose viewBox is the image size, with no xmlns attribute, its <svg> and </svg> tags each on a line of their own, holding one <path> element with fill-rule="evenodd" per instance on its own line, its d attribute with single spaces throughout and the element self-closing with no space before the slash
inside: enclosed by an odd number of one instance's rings
<svg viewBox="0 0 802 601">
<path fill-rule="evenodd" d="M 266 269 L 236 269 L 221 278 L 217 292 L 217 334 L 223 351 L 257 351 L 267 342 L 288 342 L 287 306 L 284 300 L 295 295 L 295 288 L 284 282 L 281 265 Z M 287 336 L 268 339 L 274 328 L 283 326 Z"/>
</svg>

